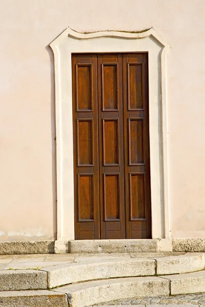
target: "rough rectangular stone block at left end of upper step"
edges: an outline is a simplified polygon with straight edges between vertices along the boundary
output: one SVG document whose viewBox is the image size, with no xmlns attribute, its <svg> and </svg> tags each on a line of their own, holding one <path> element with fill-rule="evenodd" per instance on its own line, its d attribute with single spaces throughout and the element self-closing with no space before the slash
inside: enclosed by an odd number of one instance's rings
<svg viewBox="0 0 205 307">
<path fill-rule="evenodd" d="M 37 270 L 0 271 L 0 291 L 47 288 L 46 272 Z"/>
</svg>

